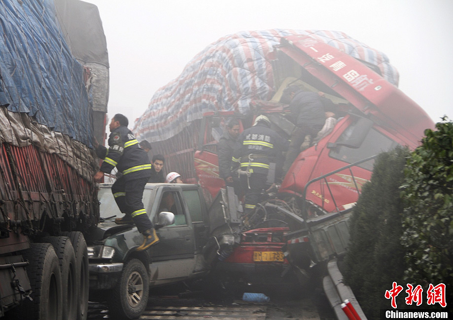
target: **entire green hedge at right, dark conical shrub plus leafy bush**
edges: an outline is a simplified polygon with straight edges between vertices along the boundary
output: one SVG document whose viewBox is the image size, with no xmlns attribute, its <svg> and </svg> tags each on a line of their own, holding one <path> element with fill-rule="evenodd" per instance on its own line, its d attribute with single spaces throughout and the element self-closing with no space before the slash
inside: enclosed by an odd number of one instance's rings
<svg viewBox="0 0 453 320">
<path fill-rule="evenodd" d="M 445 117 L 428 129 L 414 152 L 397 148 L 376 160 L 350 220 L 344 276 L 369 319 L 390 309 L 384 297 L 392 282 L 423 288 L 446 285 L 446 310 L 453 303 L 453 123 Z M 450 303 L 450 304 L 449 304 Z"/>
</svg>

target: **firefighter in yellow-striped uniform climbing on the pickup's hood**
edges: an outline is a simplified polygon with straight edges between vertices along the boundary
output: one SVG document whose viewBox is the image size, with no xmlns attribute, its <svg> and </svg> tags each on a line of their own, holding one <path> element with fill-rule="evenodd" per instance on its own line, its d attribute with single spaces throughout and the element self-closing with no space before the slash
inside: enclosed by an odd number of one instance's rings
<svg viewBox="0 0 453 320">
<path fill-rule="evenodd" d="M 110 173 L 115 166 L 122 173 L 112 185 L 112 193 L 125 216 L 115 219 L 115 223 L 137 225 L 144 237 L 137 251 L 142 251 L 159 242 L 142 202 L 143 190 L 151 177 L 151 163 L 147 153 L 139 147 L 139 141 L 127 128 L 128 125 L 128 119 L 122 114 L 118 113 L 112 118 L 108 150 L 101 145 L 96 149 L 97 155 L 104 161 L 94 179 L 101 181 L 104 173 Z"/>
</svg>

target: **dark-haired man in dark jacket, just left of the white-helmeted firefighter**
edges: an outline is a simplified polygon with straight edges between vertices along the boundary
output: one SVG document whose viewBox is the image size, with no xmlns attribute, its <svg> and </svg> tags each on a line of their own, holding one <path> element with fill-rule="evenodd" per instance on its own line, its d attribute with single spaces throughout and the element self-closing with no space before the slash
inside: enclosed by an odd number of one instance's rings
<svg viewBox="0 0 453 320">
<path fill-rule="evenodd" d="M 239 135 L 239 121 L 237 119 L 231 119 L 225 132 L 219 139 L 217 146 L 217 153 L 219 159 L 219 175 L 225 180 L 225 185 L 228 187 L 233 186 L 233 174 L 231 172 L 231 156 L 233 151 L 238 147 L 238 135 Z"/>
</svg>

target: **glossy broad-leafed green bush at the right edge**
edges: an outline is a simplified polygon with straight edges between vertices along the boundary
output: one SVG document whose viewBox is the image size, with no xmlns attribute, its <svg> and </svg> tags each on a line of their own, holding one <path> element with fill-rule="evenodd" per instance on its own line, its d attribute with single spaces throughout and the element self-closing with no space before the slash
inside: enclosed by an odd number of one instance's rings
<svg viewBox="0 0 453 320">
<path fill-rule="evenodd" d="M 406 283 L 421 285 L 424 300 L 429 284 L 444 283 L 446 300 L 452 303 L 453 123 L 447 117 L 442 120 L 437 130 L 425 130 L 422 145 L 407 161 L 401 241 L 406 248 Z"/>
</svg>

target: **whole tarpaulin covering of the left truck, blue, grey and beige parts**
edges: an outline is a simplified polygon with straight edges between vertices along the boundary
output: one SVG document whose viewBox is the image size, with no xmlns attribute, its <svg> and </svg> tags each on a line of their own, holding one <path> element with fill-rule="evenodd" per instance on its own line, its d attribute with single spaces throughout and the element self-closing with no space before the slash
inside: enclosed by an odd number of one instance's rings
<svg viewBox="0 0 453 320">
<path fill-rule="evenodd" d="M 87 146 L 94 134 L 102 141 L 108 96 L 97 7 L 1 0 L 0 33 L 0 143 L 57 154 L 91 181 L 98 163 Z"/>
</svg>

